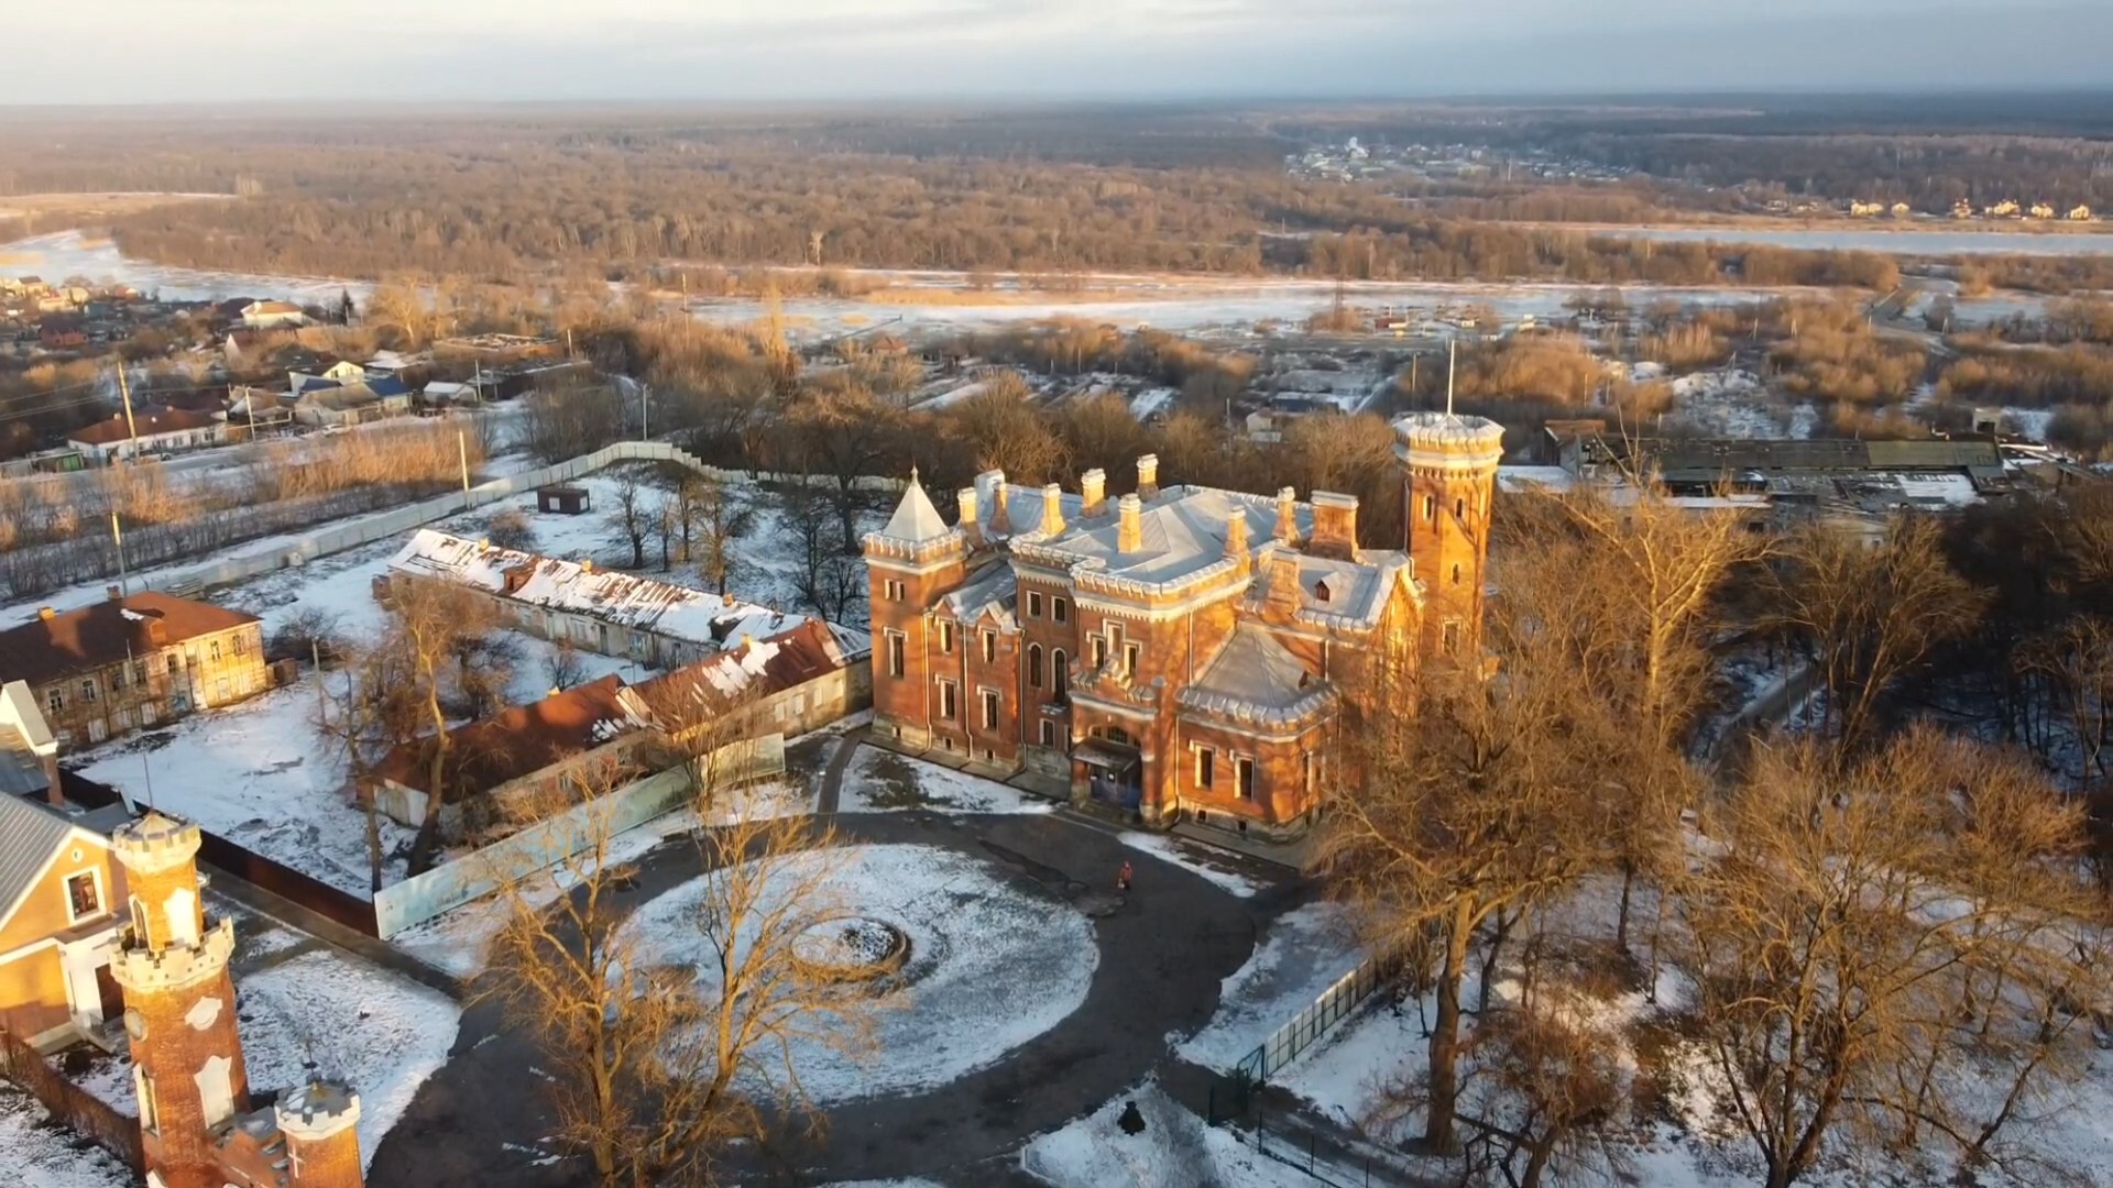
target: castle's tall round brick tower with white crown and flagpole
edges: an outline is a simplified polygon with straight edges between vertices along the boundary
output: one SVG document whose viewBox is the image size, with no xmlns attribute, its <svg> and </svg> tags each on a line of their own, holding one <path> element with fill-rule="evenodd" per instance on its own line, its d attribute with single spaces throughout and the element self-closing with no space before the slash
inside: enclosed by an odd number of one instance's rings
<svg viewBox="0 0 2113 1188">
<path fill-rule="evenodd" d="M 1405 547 L 1424 588 L 1424 655 L 1481 651 L 1483 564 L 1504 427 L 1483 416 L 1411 412 L 1395 421 Z"/>
</svg>

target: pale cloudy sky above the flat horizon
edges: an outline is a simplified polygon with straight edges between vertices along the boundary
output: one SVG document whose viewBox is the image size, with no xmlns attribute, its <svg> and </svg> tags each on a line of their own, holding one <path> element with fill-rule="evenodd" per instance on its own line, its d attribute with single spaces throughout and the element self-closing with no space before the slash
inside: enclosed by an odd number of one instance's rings
<svg viewBox="0 0 2113 1188">
<path fill-rule="evenodd" d="M 0 104 L 2109 87 L 2113 0 L 15 0 Z"/>
</svg>

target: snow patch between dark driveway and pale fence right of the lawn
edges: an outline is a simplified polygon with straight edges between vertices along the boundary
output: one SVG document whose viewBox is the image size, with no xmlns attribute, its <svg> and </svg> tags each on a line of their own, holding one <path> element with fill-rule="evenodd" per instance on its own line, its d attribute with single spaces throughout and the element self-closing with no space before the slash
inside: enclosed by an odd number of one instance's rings
<svg viewBox="0 0 2113 1188">
<path fill-rule="evenodd" d="M 1211 1023 L 1175 1044 L 1175 1055 L 1232 1070 L 1363 960 L 1342 905 L 1310 903 L 1278 915 L 1247 964 L 1226 977 Z"/>
</svg>

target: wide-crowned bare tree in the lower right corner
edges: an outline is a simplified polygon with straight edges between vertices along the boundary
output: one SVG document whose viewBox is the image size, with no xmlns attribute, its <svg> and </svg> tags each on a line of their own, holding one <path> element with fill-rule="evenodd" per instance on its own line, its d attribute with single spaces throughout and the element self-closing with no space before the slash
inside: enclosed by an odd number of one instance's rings
<svg viewBox="0 0 2113 1188">
<path fill-rule="evenodd" d="M 1836 1141 L 2014 1158 L 2005 1129 L 2102 994 L 2079 810 L 2016 757 L 1916 729 L 1855 763 L 1762 753 L 1722 839 L 1682 896 L 1682 964 L 1764 1184 Z"/>
</svg>

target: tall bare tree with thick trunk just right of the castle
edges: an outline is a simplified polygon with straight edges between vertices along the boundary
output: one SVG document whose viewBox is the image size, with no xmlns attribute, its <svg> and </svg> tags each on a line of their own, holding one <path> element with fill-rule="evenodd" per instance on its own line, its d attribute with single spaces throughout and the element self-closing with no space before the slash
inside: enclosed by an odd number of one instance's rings
<svg viewBox="0 0 2113 1188">
<path fill-rule="evenodd" d="M 1319 869 L 1378 945 L 1437 951 L 1422 1074 L 1433 1152 L 1458 1148 L 1460 994 L 1477 932 L 1492 928 L 1496 949 L 1526 911 L 1612 865 L 1600 774 L 1616 729 L 1585 695 L 1559 590 L 1513 575 L 1488 632 L 1502 685 L 1378 657 L 1344 729 L 1348 786 L 1331 801 Z"/>
</svg>

